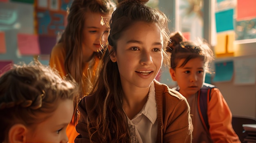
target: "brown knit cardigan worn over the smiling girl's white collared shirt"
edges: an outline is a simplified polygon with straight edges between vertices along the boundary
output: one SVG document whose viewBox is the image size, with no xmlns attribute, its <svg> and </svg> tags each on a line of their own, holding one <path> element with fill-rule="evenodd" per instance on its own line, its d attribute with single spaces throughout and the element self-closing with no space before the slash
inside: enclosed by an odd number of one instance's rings
<svg viewBox="0 0 256 143">
<path fill-rule="evenodd" d="M 193 125 L 189 104 L 179 92 L 168 88 L 165 84 L 155 83 L 157 102 L 157 141 L 156 143 L 191 143 Z M 75 143 L 90 143 L 86 118 L 95 117 L 89 114 L 94 103 L 94 96 L 87 96 L 79 102 L 81 117 L 76 125 L 79 135 Z"/>
</svg>

